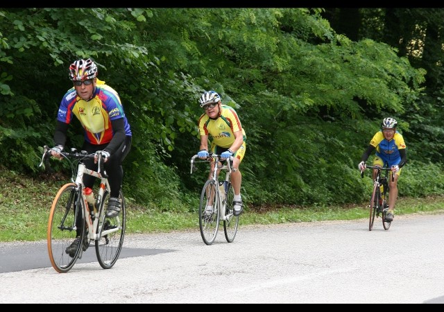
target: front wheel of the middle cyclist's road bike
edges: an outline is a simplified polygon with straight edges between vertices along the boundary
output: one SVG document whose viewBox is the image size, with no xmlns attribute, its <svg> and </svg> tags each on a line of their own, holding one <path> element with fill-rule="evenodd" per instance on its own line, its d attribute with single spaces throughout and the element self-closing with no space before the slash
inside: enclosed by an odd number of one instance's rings
<svg viewBox="0 0 444 312">
<path fill-rule="evenodd" d="M 214 180 L 205 182 L 200 194 L 199 204 L 199 229 L 200 236 L 206 245 L 211 245 L 216 239 L 219 231 L 219 198 L 217 193 L 218 185 Z M 212 199 L 213 209 L 211 213 L 205 212 L 208 202 Z"/>
</svg>

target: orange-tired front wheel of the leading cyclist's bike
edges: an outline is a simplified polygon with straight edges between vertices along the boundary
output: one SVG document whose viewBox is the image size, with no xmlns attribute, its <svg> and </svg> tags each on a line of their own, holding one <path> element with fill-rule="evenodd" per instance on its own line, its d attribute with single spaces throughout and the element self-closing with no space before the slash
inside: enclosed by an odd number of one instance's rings
<svg viewBox="0 0 444 312">
<path fill-rule="evenodd" d="M 80 203 L 80 213 L 83 215 L 83 201 L 76 200 L 79 196 L 77 185 L 74 183 L 67 183 L 63 185 L 56 197 L 53 199 L 51 211 L 49 212 L 48 229 L 46 232 L 46 241 L 48 246 L 49 260 L 51 266 L 59 272 L 66 273 L 74 266 L 82 244 L 78 244 L 78 248 L 71 257 L 67 254 L 66 249 L 76 239 L 76 216 L 74 210 L 78 203 Z M 83 224 L 85 224 L 85 218 Z M 84 233 L 84 231 L 82 231 Z M 81 234 L 81 238 L 83 239 Z"/>
</svg>

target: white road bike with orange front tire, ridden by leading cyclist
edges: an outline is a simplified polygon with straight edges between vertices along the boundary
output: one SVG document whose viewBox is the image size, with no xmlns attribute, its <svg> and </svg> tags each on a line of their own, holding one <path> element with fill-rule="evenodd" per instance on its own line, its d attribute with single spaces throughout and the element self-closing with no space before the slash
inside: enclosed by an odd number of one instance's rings
<svg viewBox="0 0 444 312">
<path fill-rule="evenodd" d="M 78 152 L 60 152 L 62 159 L 67 159 L 71 166 L 71 182 L 60 187 L 53 199 L 49 212 L 46 241 L 49 259 L 53 268 L 59 273 L 71 270 L 83 252 L 94 241 L 96 257 L 104 269 L 114 266 L 123 245 L 126 227 L 126 205 L 122 191 L 119 193 L 120 213 L 115 218 L 105 218 L 108 207 L 110 184 L 108 175 L 103 169 L 101 152 L 87 154 L 84 150 Z M 94 159 L 98 155 L 98 169 L 92 171 L 86 168 L 84 159 Z M 44 146 L 40 166 L 48 162 L 51 149 Z M 95 205 L 88 205 L 83 184 L 83 175 L 92 175 L 100 179 L 96 193 Z M 80 233 L 80 234 L 79 234 Z M 80 236 L 77 250 L 71 254 L 67 247 Z"/>
</svg>

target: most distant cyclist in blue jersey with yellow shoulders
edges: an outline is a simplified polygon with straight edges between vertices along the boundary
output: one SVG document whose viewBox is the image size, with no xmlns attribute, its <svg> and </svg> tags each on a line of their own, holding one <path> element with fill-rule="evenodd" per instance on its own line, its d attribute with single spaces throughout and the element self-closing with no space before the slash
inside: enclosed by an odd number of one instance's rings
<svg viewBox="0 0 444 312">
<path fill-rule="evenodd" d="M 391 171 L 395 173 L 395 180 L 389 179 L 390 191 L 388 192 L 388 211 L 385 220 L 387 222 L 393 221 L 395 204 L 398 198 L 398 178 L 401 174 L 401 168 L 407 162 L 407 152 L 404 142 L 404 137 L 396 130 L 398 122 L 393 118 L 385 118 L 381 123 L 381 130 L 376 132 L 368 145 L 367 150 L 361 157 L 361 162 L 358 165 L 359 170 L 364 171 L 366 168 L 366 160 L 376 149 L 373 166 L 384 166 L 388 164 Z M 376 171 L 373 170 L 373 180 L 375 179 Z"/>
</svg>

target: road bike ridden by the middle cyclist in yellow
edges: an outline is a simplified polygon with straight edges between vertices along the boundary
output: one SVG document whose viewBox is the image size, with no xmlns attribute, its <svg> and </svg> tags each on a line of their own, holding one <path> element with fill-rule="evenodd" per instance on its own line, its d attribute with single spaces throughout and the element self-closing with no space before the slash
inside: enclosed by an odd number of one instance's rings
<svg viewBox="0 0 444 312">
<path fill-rule="evenodd" d="M 231 185 L 230 175 L 233 157 L 220 160 L 221 155 L 210 154 L 207 159 L 195 160 L 198 155 L 191 157 L 191 173 L 196 162 L 210 162 L 215 164 L 212 177 L 207 180 L 200 194 L 199 228 L 200 236 L 206 245 L 211 245 L 219 231 L 219 223 L 223 221 L 223 232 L 228 243 L 234 241 L 239 227 L 239 216 L 234 216 L 233 200 L 234 189 Z M 225 171 L 225 179 L 219 180 L 221 171 Z M 209 209 L 212 206 L 212 209 Z"/>
</svg>

